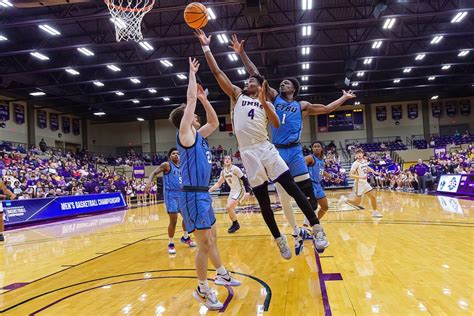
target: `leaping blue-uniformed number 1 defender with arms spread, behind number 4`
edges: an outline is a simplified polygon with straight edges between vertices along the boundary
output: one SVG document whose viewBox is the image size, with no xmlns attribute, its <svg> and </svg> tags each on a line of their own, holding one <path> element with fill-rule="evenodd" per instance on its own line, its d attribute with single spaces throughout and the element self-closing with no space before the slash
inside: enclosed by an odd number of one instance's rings
<svg viewBox="0 0 474 316">
<path fill-rule="evenodd" d="M 244 41 L 238 41 L 237 36 L 232 36 L 230 47 L 240 56 L 249 74 L 260 75 L 257 67 L 252 63 L 244 50 Z M 301 146 L 301 132 L 303 130 L 303 115 L 327 114 L 336 110 L 347 100 L 355 98 L 349 91 L 343 91 L 343 95 L 328 105 L 311 104 L 307 101 L 297 101 L 300 84 L 296 78 L 286 78 L 280 83 L 280 91 L 270 88 L 267 90 L 267 100 L 271 101 L 276 113 L 280 118 L 280 126 L 272 127 L 272 141 L 278 149 L 280 156 L 290 169 L 296 184 L 309 199 L 314 210 L 317 209 L 317 199 L 314 196 L 313 185 L 308 173 Z M 291 207 L 290 196 L 280 186 L 276 185 L 278 196 L 282 204 L 285 217 L 293 227 L 295 237 L 295 253 L 299 255 L 303 250 L 303 241 L 307 237 L 306 230 L 301 229 L 295 220 Z M 322 234 L 322 232 L 321 232 Z M 321 238 L 321 236 L 320 236 Z M 318 239 L 318 237 L 317 237 Z"/>
</svg>

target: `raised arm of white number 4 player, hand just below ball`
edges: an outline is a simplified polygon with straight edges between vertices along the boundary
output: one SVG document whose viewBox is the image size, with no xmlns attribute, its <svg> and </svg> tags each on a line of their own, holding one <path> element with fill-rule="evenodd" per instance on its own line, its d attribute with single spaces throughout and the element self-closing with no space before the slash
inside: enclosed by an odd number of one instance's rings
<svg viewBox="0 0 474 316">
<path fill-rule="evenodd" d="M 216 59 L 209 48 L 212 35 L 207 37 L 206 33 L 204 33 L 202 30 L 196 30 L 194 34 L 201 43 L 202 50 L 206 56 L 207 64 L 209 65 L 212 74 L 216 78 L 219 87 L 221 87 L 224 93 L 227 94 L 231 99 L 236 100 L 242 90 L 239 87 L 234 86 L 229 80 L 229 77 L 227 77 L 226 74 L 219 68 L 219 65 L 217 65 Z"/>
</svg>

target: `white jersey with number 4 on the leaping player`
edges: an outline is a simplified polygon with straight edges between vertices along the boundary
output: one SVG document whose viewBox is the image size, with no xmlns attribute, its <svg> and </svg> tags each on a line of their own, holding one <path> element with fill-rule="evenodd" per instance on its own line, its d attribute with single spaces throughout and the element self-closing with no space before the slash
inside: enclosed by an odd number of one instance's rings
<svg viewBox="0 0 474 316">
<path fill-rule="evenodd" d="M 267 113 L 258 99 L 241 94 L 232 110 L 232 124 L 239 148 L 268 140 Z"/>
</svg>

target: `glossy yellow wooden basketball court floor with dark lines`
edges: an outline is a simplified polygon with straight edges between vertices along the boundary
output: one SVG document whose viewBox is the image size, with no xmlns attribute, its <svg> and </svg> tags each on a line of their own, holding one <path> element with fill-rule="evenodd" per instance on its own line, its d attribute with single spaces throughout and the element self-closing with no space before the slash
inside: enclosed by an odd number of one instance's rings
<svg viewBox="0 0 474 316">
<path fill-rule="evenodd" d="M 221 255 L 242 281 L 215 287 L 223 314 L 473 315 L 473 201 L 379 192 L 384 218 L 373 220 L 368 211 L 336 209 L 340 194 L 329 192 L 323 220 L 330 247 L 315 256 L 306 241 L 289 261 L 259 213 L 240 214 L 242 229 L 227 234 L 225 200 L 216 199 Z M 178 244 L 168 255 L 167 224 L 158 204 L 7 232 L 0 314 L 215 314 L 191 298 L 195 249 Z"/>
</svg>

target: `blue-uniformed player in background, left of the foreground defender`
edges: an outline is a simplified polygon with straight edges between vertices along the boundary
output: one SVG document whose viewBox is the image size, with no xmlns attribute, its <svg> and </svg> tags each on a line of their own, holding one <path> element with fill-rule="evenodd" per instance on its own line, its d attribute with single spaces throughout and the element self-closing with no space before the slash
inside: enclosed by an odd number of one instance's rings
<svg viewBox="0 0 474 316">
<path fill-rule="evenodd" d="M 148 177 L 146 191 L 149 191 L 153 184 L 153 179 L 163 172 L 163 197 L 165 199 L 166 211 L 170 218 L 168 224 L 168 253 L 170 255 L 176 254 L 174 246 L 174 233 L 176 231 L 176 224 L 178 222 L 178 213 L 181 212 L 181 205 L 179 203 L 181 192 L 181 172 L 179 170 L 179 152 L 176 148 L 171 148 L 168 151 L 168 161 L 159 165 Z M 182 222 L 183 237 L 181 242 L 187 244 L 189 247 L 196 247 L 196 243 L 192 241 L 186 230 L 184 219 Z"/>
</svg>

